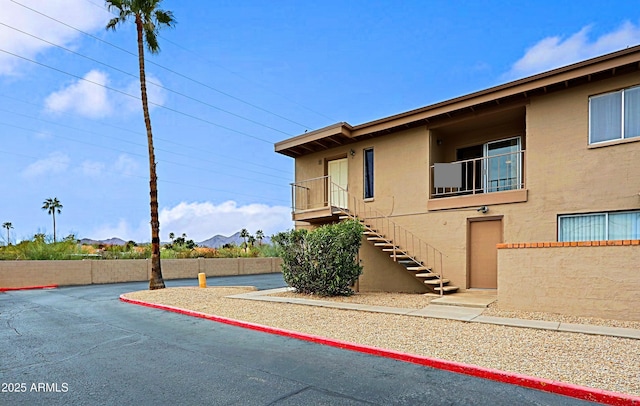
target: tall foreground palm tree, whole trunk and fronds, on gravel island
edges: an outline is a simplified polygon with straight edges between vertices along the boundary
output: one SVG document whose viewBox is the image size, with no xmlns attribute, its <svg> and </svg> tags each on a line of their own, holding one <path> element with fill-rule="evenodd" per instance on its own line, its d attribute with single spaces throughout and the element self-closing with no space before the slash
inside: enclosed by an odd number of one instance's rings
<svg viewBox="0 0 640 406">
<path fill-rule="evenodd" d="M 158 178 L 156 176 L 156 160 L 153 152 L 153 133 L 151 117 L 147 102 L 147 81 L 144 68 L 144 45 L 152 54 L 160 52 L 158 31 L 160 28 L 173 27 L 175 19 L 171 11 L 159 9 L 162 0 L 106 0 L 107 10 L 118 12 L 107 24 L 107 30 L 115 31 L 118 24 L 133 19 L 136 24 L 138 39 L 138 64 L 140 66 L 140 94 L 144 123 L 147 127 L 147 144 L 149 147 L 149 189 L 151 206 L 151 278 L 149 289 L 164 288 L 162 269 L 160 267 L 160 221 L 158 218 Z"/>
</svg>

